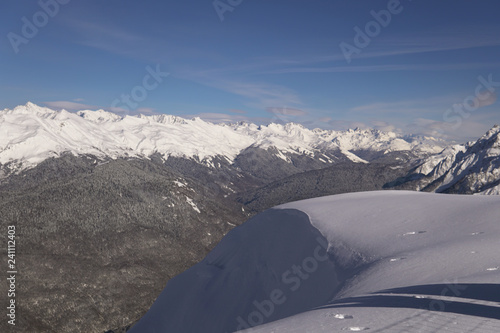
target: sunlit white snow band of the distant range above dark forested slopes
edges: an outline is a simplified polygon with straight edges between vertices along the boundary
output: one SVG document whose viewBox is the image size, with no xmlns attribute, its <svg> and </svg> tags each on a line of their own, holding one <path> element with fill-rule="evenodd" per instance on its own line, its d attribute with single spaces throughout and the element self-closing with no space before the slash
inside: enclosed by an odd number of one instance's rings
<svg viewBox="0 0 500 333">
<path fill-rule="evenodd" d="M 98 111 L 54 111 L 33 103 L 0 111 L 0 164 L 12 168 L 32 167 L 63 152 L 97 157 L 196 158 L 210 165 L 211 158 L 228 161 L 248 147 L 276 147 L 284 153 L 312 155 L 335 150 L 363 162 L 352 150 L 383 152 L 415 150 L 438 152 L 442 142 L 402 138 L 395 133 L 350 130 L 345 132 L 309 130 L 298 124 L 212 124 L 200 118 L 183 119 L 169 115 L 125 116 Z M 325 161 L 326 162 L 326 161 Z"/>
</svg>

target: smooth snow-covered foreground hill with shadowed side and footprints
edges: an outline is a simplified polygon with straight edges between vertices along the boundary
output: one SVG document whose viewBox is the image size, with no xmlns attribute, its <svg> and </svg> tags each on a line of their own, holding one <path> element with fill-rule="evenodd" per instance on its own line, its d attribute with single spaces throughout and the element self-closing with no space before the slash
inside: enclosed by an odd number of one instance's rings
<svg viewBox="0 0 500 333">
<path fill-rule="evenodd" d="M 281 205 L 169 281 L 131 332 L 500 332 L 499 217 L 498 196 Z"/>
</svg>

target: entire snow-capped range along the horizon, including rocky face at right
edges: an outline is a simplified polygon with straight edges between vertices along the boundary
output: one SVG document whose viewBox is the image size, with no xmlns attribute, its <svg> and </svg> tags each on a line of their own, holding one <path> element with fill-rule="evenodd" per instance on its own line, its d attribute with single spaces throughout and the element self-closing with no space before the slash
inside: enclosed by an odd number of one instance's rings
<svg viewBox="0 0 500 333">
<path fill-rule="evenodd" d="M 165 114 L 55 111 L 33 103 L 0 111 L 0 173 L 4 177 L 65 153 L 97 160 L 153 155 L 163 161 L 182 158 L 203 167 L 226 168 L 236 172 L 236 179 L 251 175 L 264 182 L 336 162 L 369 163 L 390 156 L 384 163 L 414 167 L 398 180 L 403 189 L 499 194 L 499 142 L 498 126 L 477 142 L 448 145 L 432 137 L 378 130 L 311 130 L 294 123 L 214 124 Z"/>
</svg>

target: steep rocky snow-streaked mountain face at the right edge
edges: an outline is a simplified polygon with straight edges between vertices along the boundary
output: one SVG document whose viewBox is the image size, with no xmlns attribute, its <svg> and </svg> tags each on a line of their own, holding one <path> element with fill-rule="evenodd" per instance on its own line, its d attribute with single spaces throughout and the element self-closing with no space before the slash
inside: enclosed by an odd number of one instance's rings
<svg viewBox="0 0 500 333">
<path fill-rule="evenodd" d="M 388 187 L 438 193 L 498 194 L 500 127 L 473 143 L 451 146 L 431 156 Z"/>
</svg>

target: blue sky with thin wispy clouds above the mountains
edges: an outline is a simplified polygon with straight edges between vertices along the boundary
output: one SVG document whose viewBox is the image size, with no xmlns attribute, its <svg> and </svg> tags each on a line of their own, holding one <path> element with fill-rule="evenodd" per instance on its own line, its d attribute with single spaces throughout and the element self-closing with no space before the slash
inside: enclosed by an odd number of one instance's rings
<svg viewBox="0 0 500 333">
<path fill-rule="evenodd" d="M 3 1 L 0 108 L 464 141 L 500 123 L 499 10 L 494 0 Z"/>
</svg>

